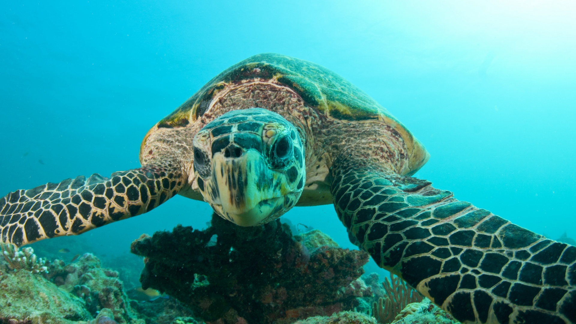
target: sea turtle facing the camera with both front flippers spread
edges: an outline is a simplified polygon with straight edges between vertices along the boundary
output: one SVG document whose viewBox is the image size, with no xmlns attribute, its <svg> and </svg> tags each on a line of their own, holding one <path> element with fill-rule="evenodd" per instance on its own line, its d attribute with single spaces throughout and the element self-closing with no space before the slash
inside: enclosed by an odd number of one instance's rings
<svg viewBox="0 0 576 324">
<path fill-rule="evenodd" d="M 241 226 L 334 204 L 354 243 L 462 322 L 576 322 L 576 247 L 412 178 L 428 157 L 338 74 L 260 54 L 154 125 L 141 168 L 14 191 L 0 199 L 0 231 L 18 246 L 79 234 L 176 194 Z"/>
</svg>

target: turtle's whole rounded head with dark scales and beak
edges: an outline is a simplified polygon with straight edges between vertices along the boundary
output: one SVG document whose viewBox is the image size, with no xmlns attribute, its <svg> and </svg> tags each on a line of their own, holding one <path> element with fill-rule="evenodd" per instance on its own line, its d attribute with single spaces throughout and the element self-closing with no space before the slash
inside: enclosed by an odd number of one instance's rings
<svg viewBox="0 0 576 324">
<path fill-rule="evenodd" d="M 304 145 L 275 112 L 230 111 L 194 137 L 194 174 L 204 200 L 223 218 L 240 226 L 268 223 L 302 194 Z"/>
</svg>

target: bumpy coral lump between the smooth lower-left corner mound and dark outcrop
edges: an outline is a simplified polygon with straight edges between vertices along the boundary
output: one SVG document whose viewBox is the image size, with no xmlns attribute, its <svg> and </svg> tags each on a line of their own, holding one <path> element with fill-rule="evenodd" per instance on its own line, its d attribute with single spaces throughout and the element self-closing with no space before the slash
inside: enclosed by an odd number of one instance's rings
<svg viewBox="0 0 576 324">
<path fill-rule="evenodd" d="M 112 311 L 118 323 L 143 323 L 130 307 L 118 272 L 102 268 L 100 260 L 86 253 L 75 263 L 55 260 L 48 265 L 48 278 L 67 292 L 84 299 L 93 316 L 104 308 Z"/>
</svg>

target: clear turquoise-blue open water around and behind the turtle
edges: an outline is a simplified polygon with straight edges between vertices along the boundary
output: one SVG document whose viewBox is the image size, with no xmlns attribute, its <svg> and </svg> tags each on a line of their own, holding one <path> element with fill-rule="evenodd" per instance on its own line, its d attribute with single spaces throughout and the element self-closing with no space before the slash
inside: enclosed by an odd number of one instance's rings
<svg viewBox="0 0 576 324">
<path fill-rule="evenodd" d="M 416 177 L 552 239 L 576 237 L 574 9 L 568 1 L 4 1 L 0 194 L 138 167 L 154 123 L 226 67 L 279 52 L 336 71 L 400 119 L 431 155 Z M 141 233 L 202 228 L 210 214 L 177 196 L 82 236 L 97 255 L 122 254 Z M 353 247 L 331 205 L 283 217 Z M 66 247 L 67 239 L 54 240 Z"/>
</svg>

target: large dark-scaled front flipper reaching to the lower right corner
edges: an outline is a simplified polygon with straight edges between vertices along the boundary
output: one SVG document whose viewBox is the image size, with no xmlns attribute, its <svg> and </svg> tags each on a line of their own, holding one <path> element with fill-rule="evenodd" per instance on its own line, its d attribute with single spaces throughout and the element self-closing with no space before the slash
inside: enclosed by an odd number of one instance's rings
<svg viewBox="0 0 576 324">
<path fill-rule="evenodd" d="M 576 247 L 426 180 L 332 169 L 340 220 L 374 261 L 463 323 L 576 322 Z"/>
</svg>

